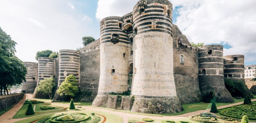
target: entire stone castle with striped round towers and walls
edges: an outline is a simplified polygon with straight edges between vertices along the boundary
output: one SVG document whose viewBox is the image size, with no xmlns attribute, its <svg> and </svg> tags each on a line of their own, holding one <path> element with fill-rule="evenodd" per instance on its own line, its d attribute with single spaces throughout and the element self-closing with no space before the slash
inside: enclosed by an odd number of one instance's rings
<svg viewBox="0 0 256 123">
<path fill-rule="evenodd" d="M 214 91 L 217 102 L 234 102 L 224 77 L 244 81 L 244 56 L 223 56 L 223 46 L 192 47 L 172 24 L 168 0 L 140 0 L 133 12 L 100 21 L 100 39 L 79 52 L 60 50 L 56 59 L 24 62 L 34 93 L 40 80 L 54 76 L 58 87 L 74 74 L 83 94 L 80 101 L 94 106 L 141 113 L 175 113 L 181 104 L 200 102 Z M 57 88 L 58 88 L 57 87 Z M 120 96 L 130 92 L 130 96 Z M 54 101 L 62 101 L 55 94 Z"/>
</svg>

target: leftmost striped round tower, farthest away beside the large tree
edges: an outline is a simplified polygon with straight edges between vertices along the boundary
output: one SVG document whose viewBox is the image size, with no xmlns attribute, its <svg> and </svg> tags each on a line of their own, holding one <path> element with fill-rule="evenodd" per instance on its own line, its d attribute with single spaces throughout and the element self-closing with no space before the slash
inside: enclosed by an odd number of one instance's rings
<svg viewBox="0 0 256 123">
<path fill-rule="evenodd" d="M 24 62 L 24 66 L 27 68 L 27 75 L 26 82 L 23 83 L 21 90 L 32 94 L 37 85 L 37 63 Z"/>
</svg>

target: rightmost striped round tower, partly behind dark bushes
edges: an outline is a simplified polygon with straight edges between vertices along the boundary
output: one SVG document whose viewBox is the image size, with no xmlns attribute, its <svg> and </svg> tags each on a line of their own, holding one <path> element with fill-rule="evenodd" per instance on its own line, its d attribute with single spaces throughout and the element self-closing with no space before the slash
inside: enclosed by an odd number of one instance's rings
<svg viewBox="0 0 256 123">
<path fill-rule="evenodd" d="M 229 78 L 233 80 L 238 80 L 245 85 L 244 80 L 244 55 L 230 55 L 224 56 L 224 78 Z M 238 82 L 237 81 L 237 82 Z M 253 98 L 252 93 L 249 91 L 248 87 L 244 86 L 246 92 L 243 96 L 249 95 Z"/>
</svg>

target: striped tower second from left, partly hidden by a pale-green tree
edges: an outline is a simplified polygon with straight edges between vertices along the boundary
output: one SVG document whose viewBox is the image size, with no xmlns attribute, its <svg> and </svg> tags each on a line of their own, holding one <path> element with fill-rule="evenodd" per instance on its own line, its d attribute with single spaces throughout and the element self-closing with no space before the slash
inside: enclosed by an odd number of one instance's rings
<svg viewBox="0 0 256 123">
<path fill-rule="evenodd" d="M 50 78 L 51 76 L 55 75 L 55 63 L 54 59 L 50 59 L 48 57 L 39 57 L 38 58 L 38 80 L 37 85 L 39 82 Z M 48 95 L 43 95 L 37 91 L 34 92 L 33 98 L 48 98 Z"/>
</svg>

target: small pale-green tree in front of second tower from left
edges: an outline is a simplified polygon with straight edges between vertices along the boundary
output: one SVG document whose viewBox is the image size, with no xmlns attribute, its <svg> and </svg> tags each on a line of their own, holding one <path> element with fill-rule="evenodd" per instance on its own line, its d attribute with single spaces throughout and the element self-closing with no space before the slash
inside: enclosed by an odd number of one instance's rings
<svg viewBox="0 0 256 123">
<path fill-rule="evenodd" d="M 39 85 L 36 87 L 36 91 L 42 92 L 43 94 L 47 94 L 49 98 L 52 100 L 53 89 L 56 86 L 55 80 L 53 77 L 44 79 L 39 82 Z"/>
</svg>

